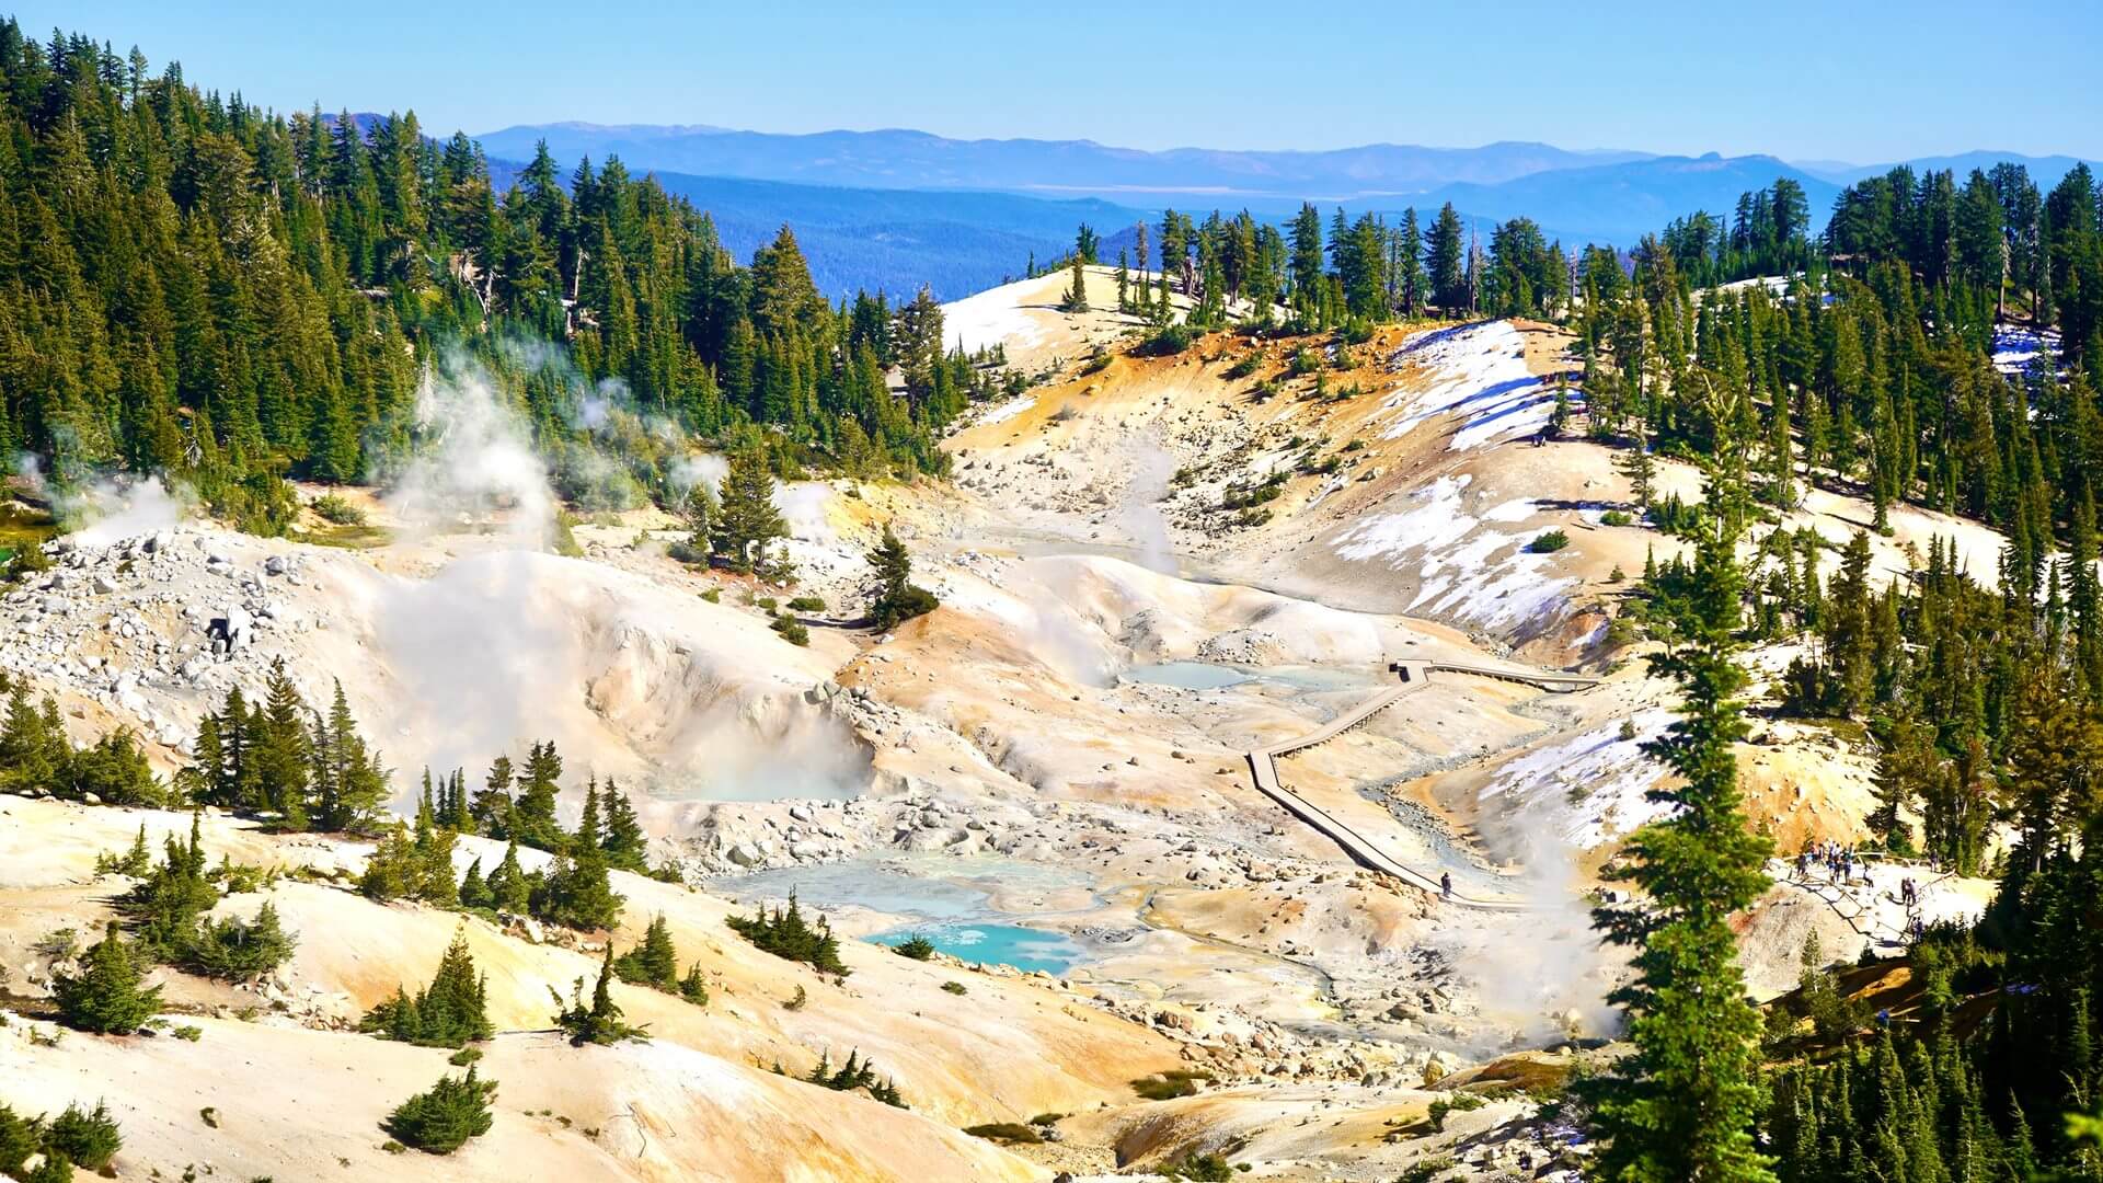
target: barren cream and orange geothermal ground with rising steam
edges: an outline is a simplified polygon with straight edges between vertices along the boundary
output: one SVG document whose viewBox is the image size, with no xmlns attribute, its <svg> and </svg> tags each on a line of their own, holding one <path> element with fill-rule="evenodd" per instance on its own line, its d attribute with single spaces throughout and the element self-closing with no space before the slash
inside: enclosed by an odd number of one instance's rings
<svg viewBox="0 0 2103 1183">
<path fill-rule="evenodd" d="M 517 758 L 553 739 L 568 808 L 587 777 L 637 798 L 656 857 L 709 882 L 677 893 L 625 880 L 627 920 L 639 930 L 648 909 L 669 911 L 681 949 L 690 939 L 709 949 L 723 1008 L 652 1012 L 656 1042 L 625 1052 L 637 1084 L 564 1080 L 551 1103 L 580 1109 L 604 1139 L 576 1145 L 545 1122 L 505 1118 L 469 1175 L 540 1154 L 534 1139 L 587 1156 L 564 1170 L 633 1177 L 782 1175 L 829 1147 L 875 1179 L 896 1175 L 908 1145 L 913 1172 L 932 1179 L 1087 1177 L 1190 1149 L 1224 1149 L 1253 1177 L 1279 1179 L 1392 1179 L 1459 1143 L 1478 1175 L 1516 1166 L 1523 1151 L 1535 1166 L 1558 1162 L 1560 1149 L 1520 1120 L 1523 1103 L 1455 1116 L 1432 1135 L 1422 1114 L 1436 1092 L 1422 1086 L 1464 1084 L 1485 1061 L 1506 1071 L 1514 1061 L 1499 1057 L 1512 1055 L 1563 1065 L 1573 1034 L 1609 1034 L 1600 1000 L 1619 964 L 1590 937 L 1586 893 L 1617 838 L 1653 815 L 1645 791 L 1659 770 L 1640 739 L 1670 718 L 1666 686 L 1640 663 L 1567 697 L 1438 676 L 1283 762 L 1295 791 L 1394 857 L 1462 886 L 1516 888 L 1537 905 L 1525 914 L 1457 911 L 1356 869 L 1255 794 L 1241 756 L 1390 684 L 1394 657 L 1598 671 L 1619 657 L 1605 646 L 1611 570 L 1640 570 L 1659 539 L 1602 524 L 1626 499 L 1605 450 L 1527 446 L 1560 343 L 1523 324 L 1390 333 L 1331 373 L 1321 398 L 1314 379 L 1285 373 L 1281 347 L 1228 377 L 1247 347 L 1226 339 L 1081 375 L 1075 362 L 1125 324 L 1058 314 L 1045 290 L 1060 282 L 995 288 L 957 309 L 953 330 L 1066 370 L 953 436 L 955 484 L 782 488 L 801 575 L 793 592 L 675 562 L 667 547 L 679 528 L 658 512 L 595 516 L 574 528 L 580 558 L 547 554 L 545 465 L 488 383 L 454 366 L 418 398 L 427 457 L 376 495 L 349 493 L 372 516 L 362 547 L 238 537 L 145 499 L 149 516 L 74 535 L 55 573 L 0 602 L 15 623 L 0 665 L 55 690 L 78 739 L 126 724 L 170 762 L 200 711 L 233 684 L 252 693 L 284 657 L 311 701 L 343 680 L 404 789 L 425 764 L 475 779 L 498 751 Z M 1115 305 L 1104 274 L 1089 295 Z M 1251 387 L 1266 377 L 1277 392 L 1258 398 Z M 1476 398 L 1485 389 L 1495 398 Z M 578 406 L 583 425 L 631 415 L 618 389 L 583 392 Z M 692 455 L 673 472 L 713 480 L 721 461 Z M 1674 469 L 1668 482 L 1689 478 Z M 1262 514 L 1222 507 L 1264 484 L 1277 495 L 1258 503 Z M 1800 518 L 1844 537 L 1857 512 L 1815 497 Z M 1941 528 L 1905 512 L 1895 522 L 1901 543 Z M 860 552 L 885 524 L 908 539 L 917 581 L 942 608 L 890 636 L 835 627 L 860 613 Z M 1548 526 L 1575 543 L 1527 554 Z M 1968 554 L 1992 539 L 1964 543 Z M 1903 564 L 1882 541 L 1878 556 Z M 826 604 L 810 615 L 808 648 L 782 642 L 753 604 L 797 594 Z M 236 610 L 252 619 L 248 640 L 215 655 L 208 629 Z M 1779 669 L 1785 657 L 1762 661 Z M 1190 678 L 1222 667 L 1243 674 Z M 1865 754 L 1775 722 L 1745 756 L 1752 806 L 1785 842 L 1855 834 L 1870 806 Z M 25 964 L 48 926 L 93 922 L 99 888 L 84 867 L 137 817 L 8 808 L 8 865 L 42 867 L 0 874 L 0 960 Z M 212 827 L 252 861 L 364 857 L 353 844 Z M 38 840 L 21 842 L 32 831 Z M 843 935 L 940 918 L 1022 922 L 1068 937 L 1081 960 L 1062 983 L 984 975 L 982 987 L 974 977 L 969 1004 L 955 1006 L 902 958 L 850 941 L 854 985 L 787 1012 L 778 1000 L 793 975 L 721 930 L 723 897 L 751 895 L 742 876 L 755 871 L 765 874 L 751 880 L 765 884 L 759 895 L 797 888 Z M 227 1069 L 215 1088 L 229 1095 L 254 1074 L 334 1080 L 362 1055 L 381 1065 L 393 1052 L 345 1050 L 328 1029 L 368 994 L 425 975 L 435 956 L 425 945 L 452 924 L 313 884 L 278 895 L 315 939 L 273 987 L 294 1004 L 263 1027 L 223 1023 L 225 1046 L 252 1069 Z M 1859 933 L 1849 945 L 1838 905 L 1802 888 L 1777 888 L 1750 926 L 1756 983 L 1794 977 L 1809 926 L 1838 954 L 1861 945 Z M 345 943 L 355 956 L 330 951 L 324 935 L 334 933 L 355 933 Z M 475 941 L 477 958 L 501 966 L 507 1023 L 519 1027 L 545 1025 L 543 981 L 583 964 L 522 935 L 477 930 Z M 238 1000 L 196 1002 L 238 1010 Z M 993 1038 L 999 1027 L 1026 1038 Z M 208 1040 L 219 1038 L 215 1023 Z M 498 1044 L 503 1057 L 545 1052 L 524 1034 Z M 877 1055 L 915 1114 L 841 1109 L 751 1071 L 772 1057 L 803 1063 L 820 1046 Z M 0 1063 L 11 1065 L 0 1078 L 61 1071 L 17 1044 L 0 1044 Z M 1178 1063 L 1213 1082 L 1163 1103 L 1127 1088 Z M 397 1069 L 376 1071 L 391 1084 Z M 606 1135 L 599 1118 L 622 1111 L 625 1088 L 656 1090 L 644 1107 L 662 1109 L 639 1122 L 688 1130 L 690 1143 L 658 1147 L 675 1164 L 608 1156 L 625 1135 Z M 671 1101 L 681 1088 L 757 1105 L 780 1143 L 740 1139 L 719 1111 L 681 1111 L 688 1101 Z M 172 1128 L 181 1105 L 196 1107 L 187 1092 L 177 1103 L 126 1082 L 122 1097 L 172 1114 L 145 1143 L 154 1162 L 179 1172 L 181 1154 L 202 1154 Z M 953 1137 L 961 1124 L 1047 1109 L 1079 1116 L 1045 1147 Z M 250 1172 L 301 1175 L 242 1145 Z M 721 1162 L 696 1166 L 711 1149 Z"/>
</svg>

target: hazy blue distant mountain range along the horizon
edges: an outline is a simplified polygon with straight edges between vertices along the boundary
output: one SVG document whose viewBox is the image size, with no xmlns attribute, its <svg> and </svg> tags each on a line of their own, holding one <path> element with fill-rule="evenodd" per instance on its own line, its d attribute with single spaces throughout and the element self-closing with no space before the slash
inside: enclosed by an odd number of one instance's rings
<svg viewBox="0 0 2103 1183">
<path fill-rule="evenodd" d="M 930 284 L 955 299 L 1020 276 L 1028 257 L 1066 250 L 1087 221 L 1112 246 L 1138 219 L 1163 208 L 1239 210 L 1279 219 L 1312 200 L 1325 208 L 1396 217 L 1453 202 L 1489 223 L 1531 217 L 1565 246 L 1638 236 L 1693 210 L 1729 215 L 1739 194 L 1777 177 L 1804 187 L 1823 223 L 1840 187 L 1893 164 L 1785 162 L 1773 156 L 1657 156 L 1630 149 L 1565 149 L 1546 143 L 1420 147 L 1375 143 L 1325 152 L 1142 152 L 1091 141 L 944 139 L 919 131 L 774 135 L 715 126 L 601 126 L 583 122 L 509 126 L 477 137 L 503 173 L 547 141 L 564 173 L 589 156 L 618 156 L 709 210 L 742 259 L 789 223 L 818 286 L 911 295 Z M 2078 160 L 1966 152 L 1907 160 L 1916 171 L 1992 168 L 2015 160 L 2040 187 Z"/>
</svg>

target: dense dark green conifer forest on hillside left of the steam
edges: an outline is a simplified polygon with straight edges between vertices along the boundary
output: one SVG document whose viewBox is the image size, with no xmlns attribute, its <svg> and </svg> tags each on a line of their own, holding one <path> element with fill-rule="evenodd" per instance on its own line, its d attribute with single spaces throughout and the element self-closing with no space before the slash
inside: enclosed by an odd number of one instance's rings
<svg viewBox="0 0 2103 1183">
<path fill-rule="evenodd" d="M 616 160 L 559 177 L 540 154 L 498 194 L 414 114 L 280 116 L 13 21 L 0 126 L 0 448 L 164 472 L 250 528 L 282 526 L 286 476 L 385 478 L 442 349 L 574 472 L 610 446 L 587 398 L 780 463 L 934 469 L 932 434 L 991 381 L 942 356 L 930 297 L 835 307 L 789 227 L 740 267 Z M 519 347 L 540 341 L 568 356 Z M 660 457 L 620 453 L 654 482 Z"/>
</svg>

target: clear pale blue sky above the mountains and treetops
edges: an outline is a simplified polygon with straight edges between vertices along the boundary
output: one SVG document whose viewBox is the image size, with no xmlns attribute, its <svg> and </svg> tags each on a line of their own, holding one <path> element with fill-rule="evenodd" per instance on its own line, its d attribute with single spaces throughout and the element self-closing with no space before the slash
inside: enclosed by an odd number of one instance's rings
<svg viewBox="0 0 2103 1183">
<path fill-rule="evenodd" d="M 658 13 L 656 8 L 665 8 Z M 0 0 L 271 107 L 431 131 L 913 126 L 1129 147 L 2103 156 L 2103 6 L 1001 0 Z"/>
</svg>

